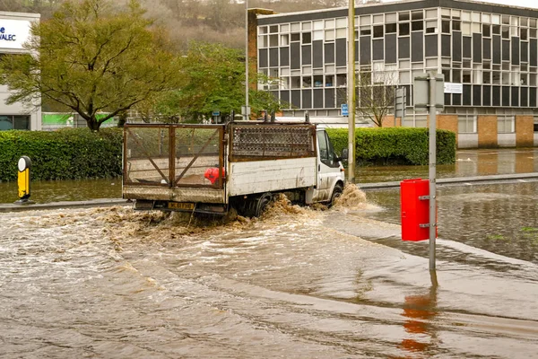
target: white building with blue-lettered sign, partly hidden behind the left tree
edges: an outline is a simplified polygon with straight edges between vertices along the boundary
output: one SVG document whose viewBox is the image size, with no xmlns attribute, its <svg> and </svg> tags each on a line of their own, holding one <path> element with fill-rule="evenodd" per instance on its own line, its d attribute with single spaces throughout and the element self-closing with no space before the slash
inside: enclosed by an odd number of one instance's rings
<svg viewBox="0 0 538 359">
<path fill-rule="evenodd" d="M 0 12 L 0 56 L 16 56 L 27 53 L 24 42 L 30 38 L 30 23 L 39 22 L 39 13 Z M 10 90 L 0 85 L 0 130 L 41 129 L 41 109 L 37 103 L 28 108 L 22 103 L 8 105 L 5 100 Z"/>
</svg>

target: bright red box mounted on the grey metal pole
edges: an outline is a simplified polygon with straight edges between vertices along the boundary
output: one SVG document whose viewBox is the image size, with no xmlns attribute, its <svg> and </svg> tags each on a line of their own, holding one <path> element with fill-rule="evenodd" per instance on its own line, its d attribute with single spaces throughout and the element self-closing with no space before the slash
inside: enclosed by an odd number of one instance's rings
<svg viewBox="0 0 538 359">
<path fill-rule="evenodd" d="M 413 179 L 400 182 L 402 240 L 430 239 L 430 181 Z M 437 237 L 437 228 L 436 228 Z"/>
</svg>

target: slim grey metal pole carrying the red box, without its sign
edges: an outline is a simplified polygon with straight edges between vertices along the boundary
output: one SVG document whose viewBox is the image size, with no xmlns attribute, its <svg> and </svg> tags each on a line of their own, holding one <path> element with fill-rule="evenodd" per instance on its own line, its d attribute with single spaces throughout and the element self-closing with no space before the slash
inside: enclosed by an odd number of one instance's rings
<svg viewBox="0 0 538 359">
<path fill-rule="evenodd" d="M 430 73 L 430 270 L 435 270 L 436 214 L 436 74 Z"/>
</svg>

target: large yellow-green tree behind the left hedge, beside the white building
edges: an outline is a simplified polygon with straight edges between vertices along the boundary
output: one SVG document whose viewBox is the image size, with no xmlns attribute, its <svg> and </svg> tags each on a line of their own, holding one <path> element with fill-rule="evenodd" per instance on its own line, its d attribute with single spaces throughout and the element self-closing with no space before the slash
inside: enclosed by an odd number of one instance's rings
<svg viewBox="0 0 538 359">
<path fill-rule="evenodd" d="M 32 55 L 0 61 L 0 83 L 14 91 L 7 102 L 54 101 L 98 131 L 109 118 L 178 88 L 178 58 L 143 14 L 136 0 L 120 9 L 109 0 L 66 1 L 52 19 L 31 25 L 25 47 Z"/>
</svg>

